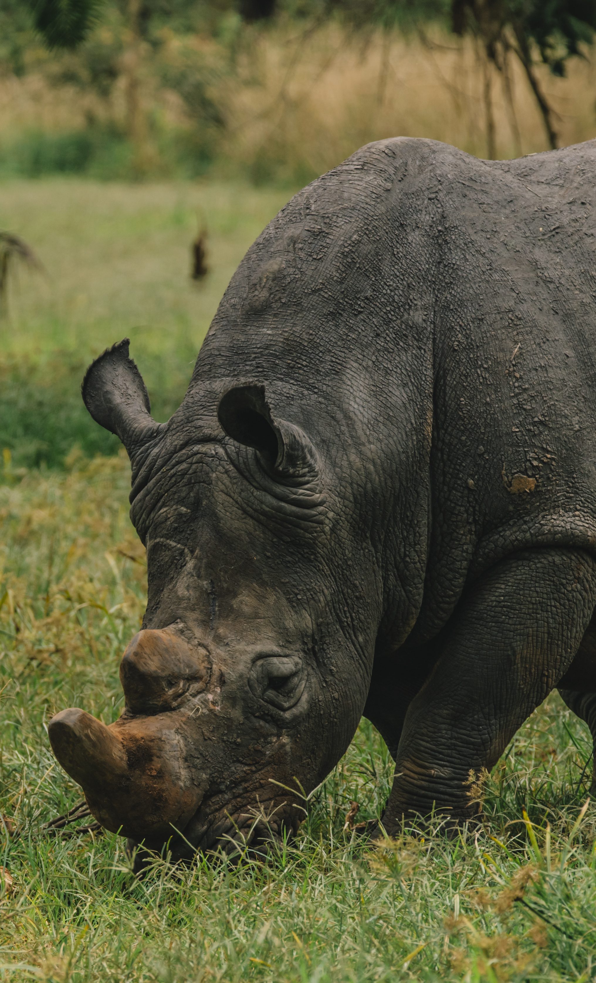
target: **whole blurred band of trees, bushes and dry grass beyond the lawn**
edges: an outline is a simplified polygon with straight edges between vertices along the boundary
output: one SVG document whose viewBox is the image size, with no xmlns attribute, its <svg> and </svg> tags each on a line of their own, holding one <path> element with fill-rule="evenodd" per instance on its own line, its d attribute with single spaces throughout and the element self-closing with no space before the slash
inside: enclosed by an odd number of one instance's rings
<svg viewBox="0 0 596 983">
<path fill-rule="evenodd" d="M 593 0 L 104 0 L 75 47 L 35 30 L 82 6 L 3 0 L 0 174 L 294 188 L 388 134 L 496 157 L 596 133 Z"/>
</svg>

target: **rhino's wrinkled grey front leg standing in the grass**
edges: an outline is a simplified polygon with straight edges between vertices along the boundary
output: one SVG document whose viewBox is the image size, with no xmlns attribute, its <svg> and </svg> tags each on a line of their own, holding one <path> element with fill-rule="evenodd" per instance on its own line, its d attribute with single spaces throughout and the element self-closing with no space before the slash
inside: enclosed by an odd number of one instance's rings
<svg viewBox="0 0 596 983">
<path fill-rule="evenodd" d="M 596 603 L 596 563 L 524 550 L 470 587 L 441 656 L 406 713 L 383 827 L 432 810 L 472 818 L 470 778 L 490 770 L 573 660 Z"/>
</svg>

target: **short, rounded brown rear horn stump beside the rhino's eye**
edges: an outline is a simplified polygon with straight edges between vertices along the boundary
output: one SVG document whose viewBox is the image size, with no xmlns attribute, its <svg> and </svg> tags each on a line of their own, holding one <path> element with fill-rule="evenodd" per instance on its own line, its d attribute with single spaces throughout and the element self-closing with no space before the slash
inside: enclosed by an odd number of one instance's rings
<svg viewBox="0 0 596 983">
<path fill-rule="evenodd" d="M 206 649 L 191 647 L 167 628 L 139 631 L 125 652 L 120 680 L 134 714 L 173 710 L 188 693 L 200 693 L 210 675 Z"/>
</svg>

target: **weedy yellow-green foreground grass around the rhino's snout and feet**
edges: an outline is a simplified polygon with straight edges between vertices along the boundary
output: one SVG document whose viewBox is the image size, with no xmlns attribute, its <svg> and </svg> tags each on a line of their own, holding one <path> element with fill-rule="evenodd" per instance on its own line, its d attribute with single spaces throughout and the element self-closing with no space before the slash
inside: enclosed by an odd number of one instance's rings
<svg viewBox="0 0 596 983">
<path fill-rule="evenodd" d="M 144 603 L 124 456 L 0 486 L 0 979 L 588 981 L 596 970 L 596 815 L 583 724 L 552 698 L 489 782 L 486 827 L 370 851 L 344 831 L 376 816 L 391 780 L 368 723 L 311 797 L 298 840 L 259 864 L 156 859 L 141 881 L 122 838 L 51 837 L 80 798 L 44 724 L 80 705 L 113 721 L 118 665 Z M 523 820 L 529 815 L 531 836 Z M 549 831 L 547 833 L 547 831 Z"/>
</svg>

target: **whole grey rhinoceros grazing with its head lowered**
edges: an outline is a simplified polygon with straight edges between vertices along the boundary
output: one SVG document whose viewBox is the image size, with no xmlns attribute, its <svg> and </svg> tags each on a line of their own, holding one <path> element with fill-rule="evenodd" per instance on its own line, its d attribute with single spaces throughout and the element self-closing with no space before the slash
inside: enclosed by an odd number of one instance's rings
<svg viewBox="0 0 596 983">
<path fill-rule="evenodd" d="M 396 763 L 373 835 L 473 819 L 555 687 L 596 732 L 596 141 L 364 146 L 248 250 L 167 423 L 128 340 L 82 396 L 148 601 L 122 717 L 49 735 L 131 846 L 293 836 L 362 716 Z"/>
</svg>

